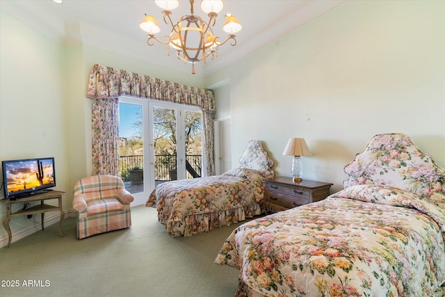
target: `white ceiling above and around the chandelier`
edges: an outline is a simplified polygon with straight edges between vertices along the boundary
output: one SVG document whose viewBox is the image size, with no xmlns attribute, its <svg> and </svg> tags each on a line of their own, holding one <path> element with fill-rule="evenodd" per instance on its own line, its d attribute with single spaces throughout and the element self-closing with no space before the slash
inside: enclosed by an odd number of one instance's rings
<svg viewBox="0 0 445 297">
<path fill-rule="evenodd" d="M 221 46 L 213 61 L 195 65 L 196 76 L 206 77 L 223 67 L 256 51 L 298 27 L 327 13 L 346 0 L 226 0 L 219 13 L 213 32 L 223 40 L 224 15 L 235 15 L 243 29 L 236 34 L 235 47 L 228 43 Z M 182 15 L 190 14 L 188 0 L 179 1 L 179 8 L 172 11 L 176 22 Z M 0 0 L 2 10 L 21 19 L 63 45 L 89 45 L 124 56 L 137 58 L 171 70 L 191 73 L 191 65 L 178 61 L 174 51 L 167 56 L 167 48 L 155 42 L 147 45 L 147 36 L 139 28 L 145 16 L 154 15 L 161 26 L 156 36 L 168 35 L 171 26 L 163 22 L 161 8 L 153 0 L 64 0 L 63 4 L 51 0 Z M 207 22 L 208 17 L 194 5 L 195 15 Z"/>
</svg>

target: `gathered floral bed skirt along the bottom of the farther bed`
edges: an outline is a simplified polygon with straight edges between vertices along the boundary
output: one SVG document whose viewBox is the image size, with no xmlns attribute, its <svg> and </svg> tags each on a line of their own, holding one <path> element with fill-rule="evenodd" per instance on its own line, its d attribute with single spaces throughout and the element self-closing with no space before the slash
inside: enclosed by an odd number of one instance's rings
<svg viewBox="0 0 445 297">
<path fill-rule="evenodd" d="M 191 214 L 182 220 L 169 221 L 168 215 L 158 213 L 159 222 L 167 227 L 172 236 L 191 236 L 201 232 L 209 232 L 216 227 L 229 226 L 246 218 L 261 214 L 261 205 L 253 203 L 236 209 L 223 209 L 203 214 Z"/>
</svg>

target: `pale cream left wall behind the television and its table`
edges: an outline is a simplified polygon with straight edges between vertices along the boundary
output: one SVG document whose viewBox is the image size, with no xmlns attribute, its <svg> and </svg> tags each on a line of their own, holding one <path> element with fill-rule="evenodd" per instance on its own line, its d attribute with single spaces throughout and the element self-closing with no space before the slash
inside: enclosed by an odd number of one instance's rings
<svg viewBox="0 0 445 297">
<path fill-rule="evenodd" d="M 0 13 L 0 159 L 54 156 L 56 190 L 67 191 L 65 51 L 14 17 Z M 64 200 L 63 207 L 68 204 Z M 3 203 L 0 207 L 3 221 L 6 207 Z M 13 211 L 22 207 L 15 204 Z M 33 225 L 26 217 L 10 221 L 12 232 Z M 4 235 L 1 227 L 0 236 Z"/>
</svg>

